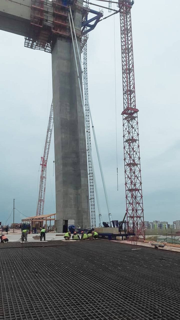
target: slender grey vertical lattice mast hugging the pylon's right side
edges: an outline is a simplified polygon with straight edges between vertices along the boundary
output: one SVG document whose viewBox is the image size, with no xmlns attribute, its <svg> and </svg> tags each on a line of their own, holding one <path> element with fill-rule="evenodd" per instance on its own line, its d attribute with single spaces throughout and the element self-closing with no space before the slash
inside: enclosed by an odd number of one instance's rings
<svg viewBox="0 0 180 320">
<path fill-rule="evenodd" d="M 87 8 L 89 4 L 89 0 L 86 0 L 85 7 Z M 86 17 L 84 17 L 85 20 Z M 88 94 L 88 82 L 87 82 L 87 39 L 88 34 L 86 33 L 87 27 L 85 28 L 85 34 L 81 39 L 81 48 L 83 48 L 83 66 L 84 66 L 84 86 L 86 86 L 86 91 Z M 85 92 L 85 114 L 86 114 L 86 130 L 89 134 L 89 141 L 91 145 L 91 134 L 90 134 L 90 121 L 89 121 L 89 107 L 88 101 Z M 93 170 L 91 164 L 91 157 L 89 153 L 89 147 L 87 144 L 87 158 L 88 158 L 88 169 L 89 169 L 89 194 L 90 194 L 90 206 L 91 206 L 91 226 L 94 228 L 96 226 L 96 217 L 95 217 L 95 202 L 94 202 L 94 179 L 93 179 Z"/>
</svg>

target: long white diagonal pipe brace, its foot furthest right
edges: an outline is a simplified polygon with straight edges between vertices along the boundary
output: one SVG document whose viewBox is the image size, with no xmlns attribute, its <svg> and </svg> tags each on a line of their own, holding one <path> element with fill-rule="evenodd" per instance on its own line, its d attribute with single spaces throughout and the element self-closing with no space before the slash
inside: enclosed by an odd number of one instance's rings
<svg viewBox="0 0 180 320">
<path fill-rule="evenodd" d="M 71 7 L 70 7 L 70 14 L 71 14 L 71 20 L 72 20 L 72 25 L 73 25 L 73 30 L 74 30 L 74 36 L 75 36 L 75 40 L 76 40 L 76 46 L 77 46 L 77 51 L 78 51 L 79 63 L 80 63 L 81 72 L 82 72 L 82 76 L 83 76 L 83 82 L 85 83 L 85 81 L 84 81 L 84 74 L 83 74 L 83 68 L 82 68 L 82 65 L 81 65 L 81 57 L 80 57 L 79 48 L 78 48 L 78 41 L 77 41 L 76 32 L 75 32 L 75 28 L 74 28 L 74 22 L 73 22 L 73 18 L 72 18 Z M 110 214 L 109 203 L 108 203 L 108 195 L 107 195 L 106 185 L 105 185 L 105 181 L 104 181 L 104 175 L 103 175 L 103 171 L 102 171 L 102 165 L 101 165 L 101 159 L 100 159 L 100 155 L 99 155 L 99 150 L 98 150 L 96 135 L 95 135 L 95 131 L 94 131 L 94 124 L 93 124 L 93 119 L 92 119 L 92 115 L 91 115 L 91 109 L 90 109 L 90 106 L 89 106 L 88 94 L 87 94 L 86 86 L 84 86 L 84 87 L 85 87 L 85 92 L 86 92 L 87 104 L 88 104 L 88 108 L 89 108 L 89 114 L 90 114 L 90 118 L 91 118 L 91 124 L 92 124 L 93 135 L 94 135 L 94 142 L 95 142 L 96 153 L 97 153 L 98 162 L 99 162 L 99 168 L 100 168 L 100 172 L 101 172 L 101 179 L 102 179 L 102 184 L 103 184 L 103 189 L 104 189 L 104 195 L 105 195 L 105 199 L 106 199 L 106 205 L 107 205 L 107 209 L 108 209 L 108 214 Z"/>
</svg>

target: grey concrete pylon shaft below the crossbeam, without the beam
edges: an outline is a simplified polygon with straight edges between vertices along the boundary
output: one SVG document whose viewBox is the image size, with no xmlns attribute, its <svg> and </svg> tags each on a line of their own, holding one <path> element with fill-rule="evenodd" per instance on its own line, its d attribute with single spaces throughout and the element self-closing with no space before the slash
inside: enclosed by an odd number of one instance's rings
<svg viewBox="0 0 180 320">
<path fill-rule="evenodd" d="M 82 11 L 74 10 L 74 24 L 79 34 L 81 23 Z M 80 38 L 78 43 L 80 50 Z M 90 211 L 85 120 L 70 38 L 58 36 L 54 41 L 52 73 L 56 219 L 74 219 L 76 226 L 88 228 Z"/>
</svg>

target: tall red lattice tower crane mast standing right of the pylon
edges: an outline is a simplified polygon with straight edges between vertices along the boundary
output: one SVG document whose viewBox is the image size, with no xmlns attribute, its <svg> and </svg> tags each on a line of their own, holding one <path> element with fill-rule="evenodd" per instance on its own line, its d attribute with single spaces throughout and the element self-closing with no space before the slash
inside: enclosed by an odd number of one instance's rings
<svg viewBox="0 0 180 320">
<path fill-rule="evenodd" d="M 134 1 L 119 1 L 122 80 L 123 80 L 123 139 L 126 187 L 127 230 L 135 229 L 144 237 L 143 195 L 139 153 L 138 109 L 135 102 L 135 75 L 131 8 Z"/>
</svg>

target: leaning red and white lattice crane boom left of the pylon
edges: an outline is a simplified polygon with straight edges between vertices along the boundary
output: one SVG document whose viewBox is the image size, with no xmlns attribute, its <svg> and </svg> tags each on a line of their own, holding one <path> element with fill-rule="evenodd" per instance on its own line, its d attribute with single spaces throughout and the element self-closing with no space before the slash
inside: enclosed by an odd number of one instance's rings
<svg viewBox="0 0 180 320">
<path fill-rule="evenodd" d="M 53 132 L 53 102 L 51 104 L 49 121 L 47 126 L 46 140 L 45 140 L 45 148 L 44 154 L 41 157 L 41 176 L 39 183 L 39 196 L 37 202 L 37 211 L 36 215 L 42 215 L 44 212 L 44 203 L 45 203 L 45 185 L 46 185 L 46 168 L 47 168 L 47 159 L 49 155 L 49 148 L 51 143 L 51 137 Z"/>
</svg>

